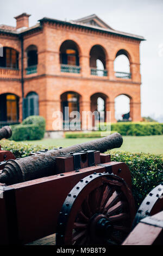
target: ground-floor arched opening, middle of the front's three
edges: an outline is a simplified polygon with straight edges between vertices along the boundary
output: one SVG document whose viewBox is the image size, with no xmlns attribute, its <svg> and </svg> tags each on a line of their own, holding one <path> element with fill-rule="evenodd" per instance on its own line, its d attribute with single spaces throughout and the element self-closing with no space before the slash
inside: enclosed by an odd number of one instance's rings
<svg viewBox="0 0 163 256">
<path fill-rule="evenodd" d="M 95 127 L 97 123 L 105 121 L 106 114 L 106 99 L 107 96 L 102 93 L 96 93 L 91 96 L 91 112 L 95 112 L 92 119 L 92 126 Z"/>
</svg>

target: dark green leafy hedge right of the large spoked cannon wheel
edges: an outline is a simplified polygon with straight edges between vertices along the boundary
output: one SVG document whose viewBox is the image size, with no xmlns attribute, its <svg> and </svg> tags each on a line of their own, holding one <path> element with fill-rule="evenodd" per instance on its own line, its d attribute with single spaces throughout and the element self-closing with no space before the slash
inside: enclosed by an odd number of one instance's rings
<svg viewBox="0 0 163 256">
<path fill-rule="evenodd" d="M 112 151 L 111 161 L 125 162 L 128 165 L 137 208 L 147 194 L 163 181 L 163 155 Z"/>
</svg>

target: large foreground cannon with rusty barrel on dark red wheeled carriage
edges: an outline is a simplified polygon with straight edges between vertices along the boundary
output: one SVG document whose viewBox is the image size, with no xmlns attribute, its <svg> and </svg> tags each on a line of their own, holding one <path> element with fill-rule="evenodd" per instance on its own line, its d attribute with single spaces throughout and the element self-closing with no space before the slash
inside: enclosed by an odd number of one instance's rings
<svg viewBox="0 0 163 256">
<path fill-rule="evenodd" d="M 56 245 L 123 245 L 163 202 L 148 199 L 136 214 L 127 164 L 104 154 L 122 142 L 114 133 L 8 160 L 0 175 L 0 244 L 26 245 L 55 233 Z"/>
</svg>

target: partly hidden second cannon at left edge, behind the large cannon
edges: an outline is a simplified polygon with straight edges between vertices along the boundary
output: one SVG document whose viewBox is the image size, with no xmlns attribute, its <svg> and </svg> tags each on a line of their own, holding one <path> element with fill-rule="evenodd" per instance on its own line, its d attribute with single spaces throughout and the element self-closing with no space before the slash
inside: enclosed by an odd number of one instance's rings
<svg viewBox="0 0 163 256">
<path fill-rule="evenodd" d="M 3 138 L 10 138 L 12 135 L 12 130 L 9 126 L 4 126 L 0 129 L 0 139 Z M 5 163 L 9 159 L 15 159 L 15 156 L 8 150 L 1 150 L 1 145 L 0 145 L 0 173 L 2 172 L 1 170 L 4 168 Z"/>
</svg>

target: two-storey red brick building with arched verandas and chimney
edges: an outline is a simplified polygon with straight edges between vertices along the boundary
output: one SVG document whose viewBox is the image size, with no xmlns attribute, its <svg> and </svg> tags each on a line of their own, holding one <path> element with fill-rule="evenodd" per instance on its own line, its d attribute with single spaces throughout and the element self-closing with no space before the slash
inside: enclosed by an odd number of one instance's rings
<svg viewBox="0 0 163 256">
<path fill-rule="evenodd" d="M 39 114 L 52 131 L 55 111 L 94 111 L 99 97 L 115 122 L 121 94 L 130 99 L 130 118 L 141 120 L 142 36 L 116 31 L 96 15 L 69 22 L 44 17 L 33 27 L 29 16 L 15 17 L 16 27 L 0 25 L 1 124 Z M 121 54 L 129 59 L 129 72 L 114 70 Z"/>
</svg>

